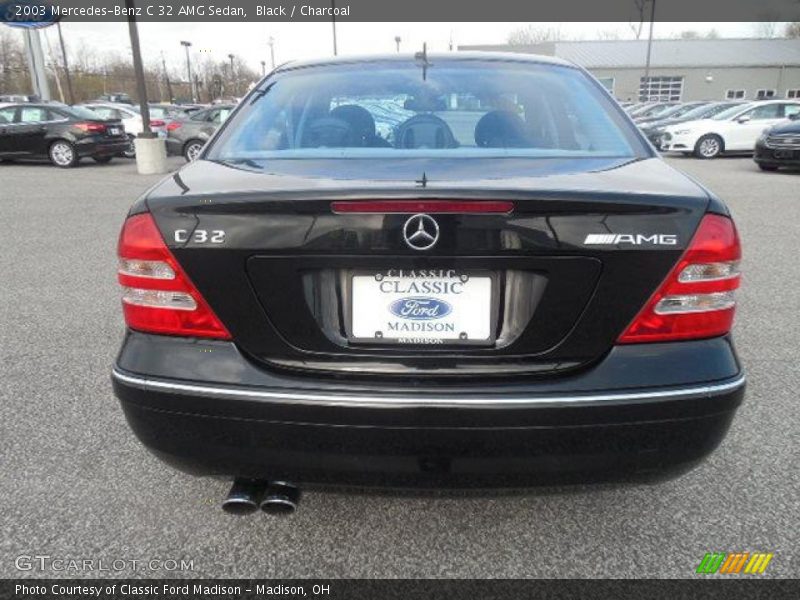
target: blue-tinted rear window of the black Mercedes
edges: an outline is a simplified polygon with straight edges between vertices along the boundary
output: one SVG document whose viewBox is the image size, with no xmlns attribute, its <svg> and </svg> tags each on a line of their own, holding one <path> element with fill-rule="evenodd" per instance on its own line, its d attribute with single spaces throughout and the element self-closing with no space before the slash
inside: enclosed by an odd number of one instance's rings
<svg viewBox="0 0 800 600">
<path fill-rule="evenodd" d="M 433 60 L 300 68 L 262 83 L 206 158 L 630 157 L 637 138 L 581 71 Z"/>
</svg>

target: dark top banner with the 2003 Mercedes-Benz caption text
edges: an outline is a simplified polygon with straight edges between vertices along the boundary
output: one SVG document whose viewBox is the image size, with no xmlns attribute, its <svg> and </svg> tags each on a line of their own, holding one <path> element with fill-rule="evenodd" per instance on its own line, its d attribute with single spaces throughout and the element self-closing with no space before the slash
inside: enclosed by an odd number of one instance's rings
<svg viewBox="0 0 800 600">
<path fill-rule="evenodd" d="M 653 4 L 655 10 L 653 11 Z M 798 21 L 798 0 L 0 0 L 0 21 Z"/>
</svg>

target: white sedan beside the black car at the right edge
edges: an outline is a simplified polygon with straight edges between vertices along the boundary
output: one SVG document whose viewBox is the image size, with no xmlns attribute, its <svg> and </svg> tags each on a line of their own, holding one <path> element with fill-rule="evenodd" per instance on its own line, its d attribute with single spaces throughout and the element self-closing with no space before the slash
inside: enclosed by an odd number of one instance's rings
<svg viewBox="0 0 800 600">
<path fill-rule="evenodd" d="M 761 132 L 800 113 L 800 101 L 767 100 L 737 105 L 711 117 L 667 127 L 661 150 L 698 158 L 724 152 L 753 152 Z"/>
</svg>

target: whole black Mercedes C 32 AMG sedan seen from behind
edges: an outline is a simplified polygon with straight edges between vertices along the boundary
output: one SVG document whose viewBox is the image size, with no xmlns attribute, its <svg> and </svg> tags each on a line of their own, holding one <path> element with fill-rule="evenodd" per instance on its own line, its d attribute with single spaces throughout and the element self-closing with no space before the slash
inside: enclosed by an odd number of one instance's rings
<svg viewBox="0 0 800 600">
<path fill-rule="evenodd" d="M 676 473 L 743 397 L 739 258 L 571 64 L 288 64 L 133 205 L 114 389 L 164 460 L 236 478 L 232 511 Z"/>
</svg>

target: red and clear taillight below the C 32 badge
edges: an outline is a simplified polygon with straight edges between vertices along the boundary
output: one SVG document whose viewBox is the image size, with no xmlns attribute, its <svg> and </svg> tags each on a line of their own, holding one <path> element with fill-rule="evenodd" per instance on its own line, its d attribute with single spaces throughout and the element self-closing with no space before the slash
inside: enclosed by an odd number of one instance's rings
<svg viewBox="0 0 800 600">
<path fill-rule="evenodd" d="M 122 310 L 131 329 L 230 339 L 231 335 L 172 256 L 152 215 L 129 217 L 117 249 Z"/>
</svg>

